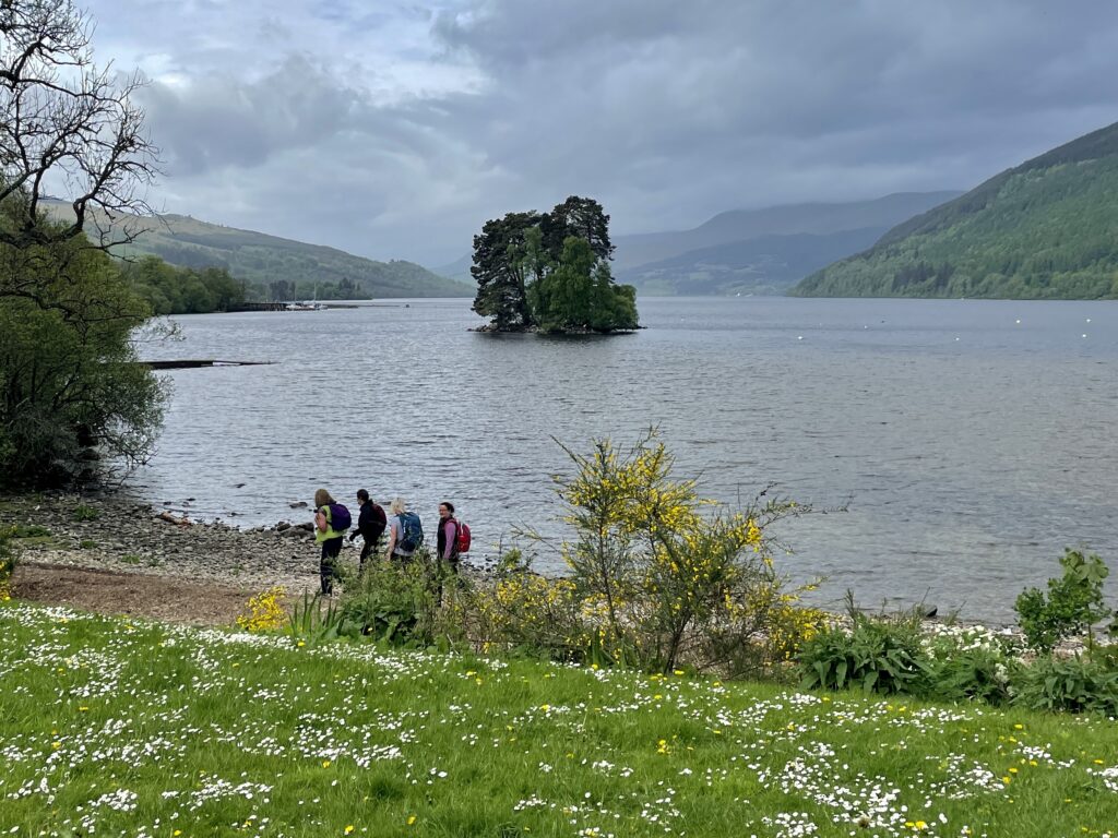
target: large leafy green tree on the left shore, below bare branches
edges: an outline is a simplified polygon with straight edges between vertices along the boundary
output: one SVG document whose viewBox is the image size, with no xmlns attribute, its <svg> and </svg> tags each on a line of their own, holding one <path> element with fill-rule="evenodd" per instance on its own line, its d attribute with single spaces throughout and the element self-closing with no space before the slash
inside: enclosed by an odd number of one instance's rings
<svg viewBox="0 0 1118 838">
<path fill-rule="evenodd" d="M 165 396 L 130 341 L 148 306 L 84 239 L 29 249 L 0 246 L 3 267 L 13 257 L 34 266 L 36 284 L 34 299 L 0 297 L 0 484 L 57 485 L 142 463 Z"/>
</svg>

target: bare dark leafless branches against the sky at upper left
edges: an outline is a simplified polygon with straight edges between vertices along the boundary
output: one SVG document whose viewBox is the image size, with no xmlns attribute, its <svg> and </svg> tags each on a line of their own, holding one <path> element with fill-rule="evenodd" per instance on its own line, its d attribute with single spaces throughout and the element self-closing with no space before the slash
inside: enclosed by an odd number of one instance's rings
<svg viewBox="0 0 1118 838">
<path fill-rule="evenodd" d="M 92 31 L 72 0 L 0 0 L 0 245 L 49 246 L 92 222 L 105 248 L 119 244 L 107 222 L 150 213 L 141 188 L 157 173 L 157 150 L 132 101 L 143 80 L 97 67 Z M 40 223 L 48 190 L 69 201 L 73 222 Z"/>
</svg>

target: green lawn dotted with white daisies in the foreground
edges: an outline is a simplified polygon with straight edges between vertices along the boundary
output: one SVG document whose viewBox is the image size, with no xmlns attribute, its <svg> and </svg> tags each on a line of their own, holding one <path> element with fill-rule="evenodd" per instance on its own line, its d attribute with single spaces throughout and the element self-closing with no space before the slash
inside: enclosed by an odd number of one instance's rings
<svg viewBox="0 0 1118 838">
<path fill-rule="evenodd" d="M 301 647 L 19 603 L 0 606 L 0 632 L 4 835 L 1098 838 L 1118 825 L 1114 721 Z"/>
</svg>

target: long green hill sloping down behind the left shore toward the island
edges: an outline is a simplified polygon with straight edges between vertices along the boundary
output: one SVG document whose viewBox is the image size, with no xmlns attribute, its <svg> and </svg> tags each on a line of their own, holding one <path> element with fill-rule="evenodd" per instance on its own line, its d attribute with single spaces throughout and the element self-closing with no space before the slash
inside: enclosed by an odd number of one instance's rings
<svg viewBox="0 0 1118 838">
<path fill-rule="evenodd" d="M 47 208 L 55 217 L 74 217 L 65 202 L 50 201 Z M 348 278 L 358 291 L 371 297 L 465 297 L 474 294 L 472 286 L 437 276 L 410 261 L 376 261 L 333 247 L 221 227 L 189 216 L 127 217 L 123 223 L 140 236 L 131 245 L 114 248 L 117 256 L 151 254 L 183 267 L 225 268 L 235 278 L 264 288 L 281 280 L 309 289 L 315 283 L 337 284 Z M 309 291 L 306 296 L 310 296 Z"/>
</svg>

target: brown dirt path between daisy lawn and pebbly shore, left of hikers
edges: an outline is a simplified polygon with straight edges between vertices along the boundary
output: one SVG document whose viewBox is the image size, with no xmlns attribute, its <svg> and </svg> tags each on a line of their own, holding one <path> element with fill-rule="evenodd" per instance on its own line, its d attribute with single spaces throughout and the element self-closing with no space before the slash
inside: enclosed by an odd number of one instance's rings
<svg viewBox="0 0 1118 838">
<path fill-rule="evenodd" d="M 217 582 L 32 561 L 17 566 L 12 582 L 17 599 L 196 626 L 231 626 L 256 592 Z"/>
</svg>

